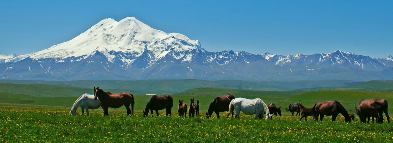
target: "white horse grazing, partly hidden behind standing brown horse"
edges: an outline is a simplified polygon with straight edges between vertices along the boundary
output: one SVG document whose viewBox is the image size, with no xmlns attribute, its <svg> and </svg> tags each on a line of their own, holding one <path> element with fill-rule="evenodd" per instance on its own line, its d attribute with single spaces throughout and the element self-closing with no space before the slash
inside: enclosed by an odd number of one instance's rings
<svg viewBox="0 0 393 143">
<path fill-rule="evenodd" d="M 84 115 L 84 109 L 86 109 L 86 113 L 89 115 L 89 109 L 97 109 L 101 107 L 101 101 L 99 99 L 94 100 L 94 95 L 85 93 L 75 101 L 74 105 L 72 105 L 70 114 L 75 116 L 78 107 L 82 108 L 82 115 Z"/>
</svg>

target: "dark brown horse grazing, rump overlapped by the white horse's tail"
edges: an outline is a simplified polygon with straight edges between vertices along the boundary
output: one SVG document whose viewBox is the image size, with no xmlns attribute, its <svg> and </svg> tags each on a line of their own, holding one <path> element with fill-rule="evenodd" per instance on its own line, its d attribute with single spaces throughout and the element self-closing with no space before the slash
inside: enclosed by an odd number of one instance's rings
<svg viewBox="0 0 393 143">
<path fill-rule="evenodd" d="M 233 95 L 227 94 L 223 97 L 216 97 L 209 105 L 208 113 L 206 113 L 206 118 L 211 117 L 211 114 L 216 113 L 217 118 L 220 118 L 220 112 L 229 111 L 229 104 L 231 103 L 232 99 L 235 99 Z M 229 117 L 229 114 L 227 118 Z M 233 118 L 233 112 L 232 112 Z"/>
</svg>

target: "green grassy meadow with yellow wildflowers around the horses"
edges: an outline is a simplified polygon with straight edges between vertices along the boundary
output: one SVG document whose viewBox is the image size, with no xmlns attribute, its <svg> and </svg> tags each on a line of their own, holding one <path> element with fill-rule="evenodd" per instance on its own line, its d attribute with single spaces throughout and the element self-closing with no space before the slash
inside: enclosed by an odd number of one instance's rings
<svg viewBox="0 0 393 143">
<path fill-rule="evenodd" d="M 102 109 L 90 110 L 90 116 L 70 116 L 69 109 L 77 99 L 66 95 L 70 92 L 81 95 L 92 93 L 92 89 L 63 85 L 0 84 L 0 142 L 392 142 L 393 126 L 385 121 L 377 123 L 345 123 L 337 119 L 331 122 L 325 116 L 323 122 L 299 121 L 285 111 L 290 103 L 302 103 L 312 107 L 319 101 L 338 100 L 353 113 L 355 104 L 361 99 L 384 98 L 389 103 L 389 114 L 393 114 L 392 89 L 373 88 L 368 91 L 254 91 L 226 88 L 195 88 L 173 94 L 172 116 L 142 117 L 149 96 L 135 95 L 135 114 L 126 116 L 124 107 L 110 109 L 103 116 Z M 380 84 L 382 85 L 382 84 Z M 60 88 L 58 87 L 60 86 Z M 7 87 L 7 88 L 3 88 Z M 105 89 L 104 89 L 105 90 Z M 116 93 L 121 89 L 107 89 Z M 39 94 L 44 93 L 44 94 Z M 48 96 L 58 93 L 57 96 Z M 255 120 L 255 116 L 241 113 L 240 119 L 206 119 L 204 114 L 215 97 L 233 94 L 235 97 L 261 98 L 266 104 L 274 102 L 281 106 L 283 116 L 273 120 Z M 189 98 L 200 100 L 200 114 L 195 118 L 180 118 L 177 114 L 178 100 L 189 104 Z M 339 115 L 341 116 L 341 115 Z"/>
</svg>

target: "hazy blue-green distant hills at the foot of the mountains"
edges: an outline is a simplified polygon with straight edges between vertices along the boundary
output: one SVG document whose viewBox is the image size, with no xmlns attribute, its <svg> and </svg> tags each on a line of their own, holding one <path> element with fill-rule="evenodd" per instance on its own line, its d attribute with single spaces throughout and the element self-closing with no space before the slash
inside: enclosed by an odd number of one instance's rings
<svg viewBox="0 0 393 143">
<path fill-rule="evenodd" d="M 80 88 L 130 89 L 144 93 L 174 94 L 193 88 L 230 88 L 259 91 L 288 91 L 299 88 L 346 86 L 358 82 L 352 80 L 305 80 L 305 81 L 243 81 L 243 80 L 75 80 L 75 81 L 39 81 L 39 80 L 0 80 L 14 84 L 56 84 Z"/>
</svg>

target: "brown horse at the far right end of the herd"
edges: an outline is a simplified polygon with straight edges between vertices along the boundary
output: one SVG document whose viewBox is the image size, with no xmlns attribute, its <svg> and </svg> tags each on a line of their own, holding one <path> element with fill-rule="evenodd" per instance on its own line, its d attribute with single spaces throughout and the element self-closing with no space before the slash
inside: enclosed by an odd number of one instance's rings
<svg viewBox="0 0 393 143">
<path fill-rule="evenodd" d="M 385 113 L 387 122 L 390 123 L 389 114 L 387 114 L 387 101 L 385 99 L 362 99 L 358 107 L 355 108 L 355 114 L 359 116 L 360 122 L 363 123 L 369 117 L 376 117 L 376 122 L 382 123 L 384 121 L 382 113 Z"/>
</svg>

